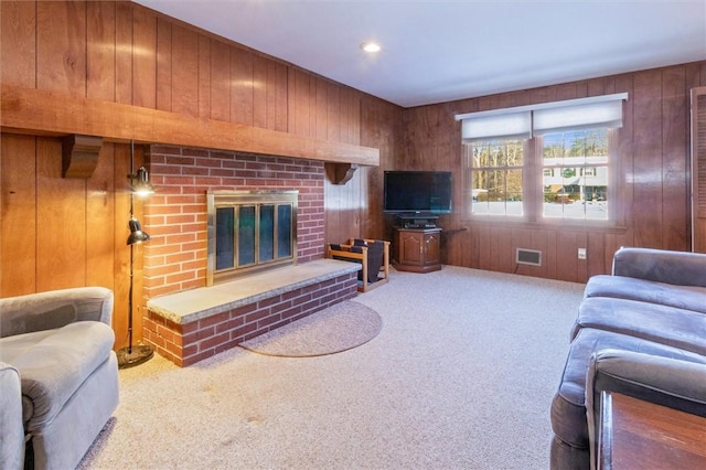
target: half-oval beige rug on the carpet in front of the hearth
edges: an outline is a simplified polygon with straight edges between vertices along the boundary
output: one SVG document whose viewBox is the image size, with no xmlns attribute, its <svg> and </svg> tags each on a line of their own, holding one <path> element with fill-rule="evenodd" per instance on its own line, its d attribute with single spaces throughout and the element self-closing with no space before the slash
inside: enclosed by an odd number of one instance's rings
<svg viewBox="0 0 706 470">
<path fill-rule="evenodd" d="M 239 344 L 259 354 L 307 357 L 357 348 L 377 337 L 379 314 L 362 303 L 344 300 Z"/>
</svg>

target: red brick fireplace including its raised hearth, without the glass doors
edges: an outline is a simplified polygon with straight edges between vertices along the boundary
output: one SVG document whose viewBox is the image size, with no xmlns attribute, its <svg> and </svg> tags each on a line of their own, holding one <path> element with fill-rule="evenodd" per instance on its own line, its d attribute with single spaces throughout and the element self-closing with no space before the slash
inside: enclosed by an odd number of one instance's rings
<svg viewBox="0 0 706 470">
<path fill-rule="evenodd" d="M 145 245 L 143 339 L 176 365 L 356 296 L 357 266 L 322 259 L 323 162 L 163 146 L 152 146 L 146 161 L 157 192 L 145 205 L 152 238 Z M 297 191 L 298 266 L 205 287 L 206 194 L 214 191 Z"/>
</svg>

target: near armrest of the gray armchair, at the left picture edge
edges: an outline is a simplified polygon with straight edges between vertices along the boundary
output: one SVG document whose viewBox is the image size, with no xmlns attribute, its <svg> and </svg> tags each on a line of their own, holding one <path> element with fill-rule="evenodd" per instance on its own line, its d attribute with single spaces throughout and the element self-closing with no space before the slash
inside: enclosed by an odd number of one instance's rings
<svg viewBox="0 0 706 470">
<path fill-rule="evenodd" d="M 24 427 L 20 373 L 0 362 L 0 468 L 24 467 Z"/>
</svg>

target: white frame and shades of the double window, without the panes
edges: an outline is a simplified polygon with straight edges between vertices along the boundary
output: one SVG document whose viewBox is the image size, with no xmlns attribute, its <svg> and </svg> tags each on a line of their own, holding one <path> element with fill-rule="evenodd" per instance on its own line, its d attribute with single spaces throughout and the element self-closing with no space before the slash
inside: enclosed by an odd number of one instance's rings
<svg viewBox="0 0 706 470">
<path fill-rule="evenodd" d="M 624 173 L 620 142 L 620 128 L 624 116 L 628 93 L 590 96 L 560 102 L 539 103 L 510 108 L 489 109 L 456 115 L 461 121 L 462 141 L 462 220 L 491 223 L 510 222 L 538 226 L 576 226 L 582 228 L 605 228 L 624 231 L 624 196 L 628 175 Z M 545 133 L 585 129 L 608 129 L 608 188 L 610 203 L 607 220 L 568 218 L 544 216 L 544 161 L 543 138 Z M 523 165 L 523 216 L 473 214 L 472 197 L 472 145 L 483 140 L 524 139 Z M 581 165 L 586 168 L 586 165 Z M 597 165 L 602 167 L 602 164 Z"/>
</svg>

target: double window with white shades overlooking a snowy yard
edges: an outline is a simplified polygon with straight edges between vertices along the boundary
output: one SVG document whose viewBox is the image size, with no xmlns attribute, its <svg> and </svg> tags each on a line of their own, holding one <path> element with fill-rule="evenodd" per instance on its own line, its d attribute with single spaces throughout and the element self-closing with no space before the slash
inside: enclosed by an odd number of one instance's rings
<svg viewBox="0 0 706 470">
<path fill-rule="evenodd" d="M 616 223 L 613 129 L 627 94 L 457 116 L 468 213 L 528 222 Z M 612 179 L 611 179 L 612 178 Z"/>
</svg>

